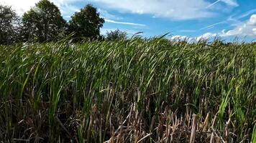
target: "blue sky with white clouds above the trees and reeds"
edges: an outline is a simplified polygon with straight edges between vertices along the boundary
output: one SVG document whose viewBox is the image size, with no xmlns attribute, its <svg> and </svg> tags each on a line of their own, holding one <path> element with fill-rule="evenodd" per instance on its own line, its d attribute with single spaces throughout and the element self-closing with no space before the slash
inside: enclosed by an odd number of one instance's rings
<svg viewBox="0 0 256 143">
<path fill-rule="evenodd" d="M 0 0 L 20 16 L 39 0 Z M 67 21 L 86 4 L 105 19 L 101 34 L 119 29 L 170 39 L 235 38 L 256 41 L 256 0 L 50 0 Z"/>
</svg>

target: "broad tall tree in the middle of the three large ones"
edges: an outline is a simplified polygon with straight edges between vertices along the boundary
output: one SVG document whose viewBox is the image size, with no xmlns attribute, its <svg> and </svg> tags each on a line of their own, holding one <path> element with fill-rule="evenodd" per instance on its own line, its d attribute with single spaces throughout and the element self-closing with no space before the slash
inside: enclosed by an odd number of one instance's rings
<svg viewBox="0 0 256 143">
<path fill-rule="evenodd" d="M 22 16 L 22 35 L 26 41 L 52 41 L 64 33 L 66 21 L 55 4 L 41 0 Z"/>
</svg>

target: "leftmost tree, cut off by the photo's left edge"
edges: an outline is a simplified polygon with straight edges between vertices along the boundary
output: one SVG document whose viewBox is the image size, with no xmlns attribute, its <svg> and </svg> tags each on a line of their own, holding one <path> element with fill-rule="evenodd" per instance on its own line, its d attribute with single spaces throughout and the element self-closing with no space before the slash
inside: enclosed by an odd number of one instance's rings
<svg viewBox="0 0 256 143">
<path fill-rule="evenodd" d="M 0 5 L 0 44 L 17 41 L 19 18 L 11 6 Z"/>
</svg>

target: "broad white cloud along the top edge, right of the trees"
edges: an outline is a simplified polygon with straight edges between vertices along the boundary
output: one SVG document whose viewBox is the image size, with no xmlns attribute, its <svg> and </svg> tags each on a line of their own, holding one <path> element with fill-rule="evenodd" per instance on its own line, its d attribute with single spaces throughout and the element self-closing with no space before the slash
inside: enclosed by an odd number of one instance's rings
<svg viewBox="0 0 256 143">
<path fill-rule="evenodd" d="M 197 19 L 214 16 L 206 0 L 93 0 L 109 9 L 134 14 L 152 14 L 170 19 Z"/>
</svg>

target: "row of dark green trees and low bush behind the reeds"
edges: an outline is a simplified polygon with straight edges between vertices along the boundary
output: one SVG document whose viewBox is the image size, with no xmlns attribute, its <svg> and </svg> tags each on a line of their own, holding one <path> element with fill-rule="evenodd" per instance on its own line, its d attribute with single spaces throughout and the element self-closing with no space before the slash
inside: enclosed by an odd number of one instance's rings
<svg viewBox="0 0 256 143">
<path fill-rule="evenodd" d="M 0 44 L 17 42 L 58 41 L 72 35 L 73 41 L 82 39 L 104 39 L 100 28 L 104 19 L 91 4 L 65 21 L 58 6 L 48 0 L 41 0 L 19 17 L 11 6 L 0 5 Z M 106 39 L 126 37 L 116 30 L 107 33 Z"/>
</svg>

